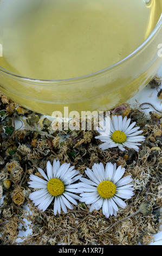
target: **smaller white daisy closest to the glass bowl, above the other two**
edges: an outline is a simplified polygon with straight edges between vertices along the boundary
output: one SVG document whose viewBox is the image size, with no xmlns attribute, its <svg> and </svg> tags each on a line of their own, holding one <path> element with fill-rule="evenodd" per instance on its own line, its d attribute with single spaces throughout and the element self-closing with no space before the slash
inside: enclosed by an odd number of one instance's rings
<svg viewBox="0 0 162 256">
<path fill-rule="evenodd" d="M 109 121 L 109 129 L 104 130 L 106 121 Z M 124 151 L 124 147 L 127 147 L 138 152 L 138 145 L 141 145 L 139 142 L 145 141 L 145 137 L 142 135 L 139 136 L 143 131 L 138 131 L 140 128 L 138 126 L 134 127 L 135 122 L 129 125 L 130 123 L 130 118 L 128 120 L 127 117 L 122 119 L 121 115 L 113 115 L 112 120 L 106 117 L 105 122 L 100 124 L 101 128 L 98 129 L 100 135 L 95 137 L 96 139 L 100 139 L 101 142 L 105 142 L 100 145 L 100 148 L 105 150 L 119 147 L 120 150 Z"/>
</svg>

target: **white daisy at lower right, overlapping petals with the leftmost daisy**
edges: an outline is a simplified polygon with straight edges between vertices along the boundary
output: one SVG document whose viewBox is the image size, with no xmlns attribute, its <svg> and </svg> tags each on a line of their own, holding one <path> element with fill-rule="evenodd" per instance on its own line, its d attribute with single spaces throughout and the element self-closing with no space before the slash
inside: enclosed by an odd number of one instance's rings
<svg viewBox="0 0 162 256">
<path fill-rule="evenodd" d="M 116 169 L 116 164 L 107 163 L 104 168 L 102 163 L 95 163 L 92 170 L 87 168 L 85 172 L 90 180 L 80 178 L 82 182 L 79 185 L 83 191 L 80 201 L 92 204 L 90 212 L 102 207 L 103 215 L 107 218 L 110 215 L 116 216 L 118 206 L 127 206 L 121 198 L 130 199 L 134 195 L 133 184 L 129 184 L 133 179 L 131 175 L 121 179 L 125 173 L 125 168 L 121 166 Z"/>
</svg>

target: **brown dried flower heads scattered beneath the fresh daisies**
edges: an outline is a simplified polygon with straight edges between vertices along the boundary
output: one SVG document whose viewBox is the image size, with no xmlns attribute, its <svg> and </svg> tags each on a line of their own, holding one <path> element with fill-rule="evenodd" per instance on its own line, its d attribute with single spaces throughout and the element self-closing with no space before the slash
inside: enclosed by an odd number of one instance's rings
<svg viewBox="0 0 162 256">
<path fill-rule="evenodd" d="M 158 86 L 157 78 L 151 82 Z M 159 195 L 162 176 L 162 113 L 150 112 L 146 117 L 139 109 L 127 104 L 112 109 L 111 114 L 136 121 L 146 141 L 137 153 L 118 148 L 99 149 L 97 131 L 59 131 L 51 129 L 51 121 L 18 106 L 0 94 L 0 185 L 3 187 L 3 205 L 0 208 L 0 240 L 3 245 L 147 245 L 160 227 Z M 148 105 L 148 103 L 147 103 Z M 155 109 L 154 109 L 155 110 Z M 23 128 L 15 129 L 15 120 Z M 56 125 L 55 125 L 56 126 Z M 132 175 L 135 195 L 127 200 L 127 208 L 119 209 L 117 216 L 106 218 L 102 210 L 89 212 L 89 206 L 80 203 L 68 213 L 53 214 L 53 204 L 45 212 L 29 200 L 33 192 L 28 187 L 29 175 L 40 176 L 37 168 L 46 169 L 47 161 L 60 160 L 75 166 L 85 176 L 85 169 L 94 163 L 107 162 L 122 165 L 126 175 Z M 45 170 L 46 171 L 46 170 Z M 28 205 L 29 210 L 24 208 Z M 28 220 L 29 226 L 24 220 Z M 21 223 L 21 225 L 20 225 Z M 16 242 L 20 230 L 32 229 L 32 235 Z"/>
</svg>

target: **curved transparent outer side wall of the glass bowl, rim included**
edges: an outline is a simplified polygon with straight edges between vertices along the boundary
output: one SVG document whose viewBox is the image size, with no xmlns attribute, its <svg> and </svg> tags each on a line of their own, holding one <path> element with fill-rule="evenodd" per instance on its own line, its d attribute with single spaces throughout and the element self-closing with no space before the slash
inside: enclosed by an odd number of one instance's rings
<svg viewBox="0 0 162 256">
<path fill-rule="evenodd" d="M 0 66 L 0 90 L 18 104 L 41 114 L 68 111 L 108 111 L 134 96 L 162 64 L 162 16 L 140 47 L 120 62 L 87 76 L 69 80 L 23 77 Z"/>
</svg>

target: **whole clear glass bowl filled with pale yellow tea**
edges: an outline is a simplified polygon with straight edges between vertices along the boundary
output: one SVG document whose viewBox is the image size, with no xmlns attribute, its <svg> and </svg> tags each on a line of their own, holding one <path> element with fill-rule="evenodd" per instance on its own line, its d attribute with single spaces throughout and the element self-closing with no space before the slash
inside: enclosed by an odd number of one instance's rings
<svg viewBox="0 0 162 256">
<path fill-rule="evenodd" d="M 161 12 L 161 0 L 0 0 L 0 91 L 47 115 L 112 109 L 159 69 Z"/>
</svg>

